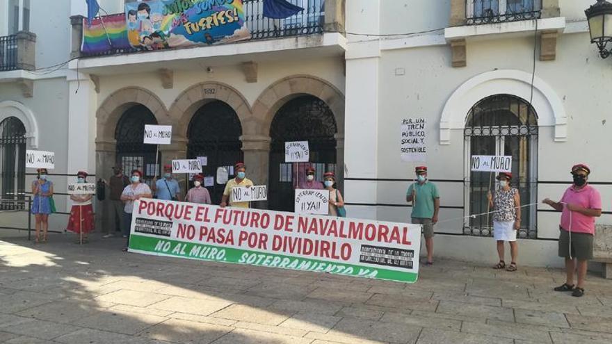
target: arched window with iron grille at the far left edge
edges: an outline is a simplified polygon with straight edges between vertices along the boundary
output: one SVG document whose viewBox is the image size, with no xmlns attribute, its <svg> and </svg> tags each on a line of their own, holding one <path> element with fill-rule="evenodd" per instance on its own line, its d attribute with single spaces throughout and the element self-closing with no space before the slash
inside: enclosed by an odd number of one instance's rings
<svg viewBox="0 0 612 344">
<path fill-rule="evenodd" d="M 0 196 L 24 199 L 26 193 L 26 127 L 17 117 L 0 122 Z M 24 208 L 24 204 L 1 202 L 0 210 Z"/>
</svg>

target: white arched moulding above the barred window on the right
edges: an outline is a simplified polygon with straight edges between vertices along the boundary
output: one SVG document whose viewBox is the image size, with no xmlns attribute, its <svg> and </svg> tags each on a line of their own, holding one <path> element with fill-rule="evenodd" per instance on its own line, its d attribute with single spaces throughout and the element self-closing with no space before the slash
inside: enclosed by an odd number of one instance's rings
<svg viewBox="0 0 612 344">
<path fill-rule="evenodd" d="M 531 97 L 532 74 L 516 69 L 501 69 L 469 79 L 446 101 L 440 119 L 440 145 L 451 143 L 451 129 L 463 129 L 469 109 L 486 97 L 506 94 L 522 99 Z M 538 114 L 538 126 L 554 126 L 554 140 L 567 140 L 567 114 L 563 101 L 545 81 L 533 78 L 531 106 Z"/>
</svg>

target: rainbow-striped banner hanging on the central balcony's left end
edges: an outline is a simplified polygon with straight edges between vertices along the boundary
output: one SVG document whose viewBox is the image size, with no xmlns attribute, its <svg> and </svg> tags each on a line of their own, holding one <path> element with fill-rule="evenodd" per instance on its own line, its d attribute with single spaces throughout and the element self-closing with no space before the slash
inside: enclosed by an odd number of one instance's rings
<svg viewBox="0 0 612 344">
<path fill-rule="evenodd" d="M 104 22 L 102 22 L 104 21 Z M 110 39 L 110 43 L 108 40 Z M 107 15 L 92 19 L 91 26 L 87 18 L 83 19 L 83 43 L 81 52 L 84 55 L 104 54 L 108 51 L 132 49 L 127 39 L 125 15 Z"/>
</svg>

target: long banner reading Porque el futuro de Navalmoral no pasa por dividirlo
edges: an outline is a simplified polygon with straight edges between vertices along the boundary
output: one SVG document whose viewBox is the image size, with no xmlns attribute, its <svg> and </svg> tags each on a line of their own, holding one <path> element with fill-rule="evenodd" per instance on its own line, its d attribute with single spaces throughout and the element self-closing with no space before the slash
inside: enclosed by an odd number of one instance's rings
<svg viewBox="0 0 612 344">
<path fill-rule="evenodd" d="M 129 251 L 414 282 L 421 226 L 140 199 Z"/>
</svg>

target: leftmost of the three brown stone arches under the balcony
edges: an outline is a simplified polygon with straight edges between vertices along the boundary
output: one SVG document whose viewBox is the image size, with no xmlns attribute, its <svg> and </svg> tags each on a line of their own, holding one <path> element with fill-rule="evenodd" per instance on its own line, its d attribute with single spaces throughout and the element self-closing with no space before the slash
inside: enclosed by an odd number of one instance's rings
<svg viewBox="0 0 612 344">
<path fill-rule="evenodd" d="M 153 92 L 135 86 L 121 88 L 102 101 L 96 112 L 96 141 L 115 142 L 115 127 L 130 106 L 142 104 L 155 116 L 158 124 L 170 124 L 168 110 Z"/>
</svg>

